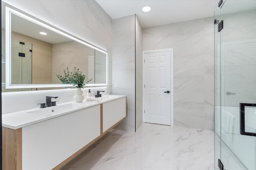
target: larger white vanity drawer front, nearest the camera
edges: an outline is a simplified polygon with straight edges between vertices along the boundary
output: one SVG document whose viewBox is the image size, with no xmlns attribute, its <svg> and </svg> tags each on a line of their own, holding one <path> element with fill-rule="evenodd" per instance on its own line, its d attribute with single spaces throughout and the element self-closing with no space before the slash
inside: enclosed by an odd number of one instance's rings
<svg viewBox="0 0 256 170">
<path fill-rule="evenodd" d="M 22 169 L 51 170 L 100 136 L 100 105 L 22 128 Z"/>
</svg>

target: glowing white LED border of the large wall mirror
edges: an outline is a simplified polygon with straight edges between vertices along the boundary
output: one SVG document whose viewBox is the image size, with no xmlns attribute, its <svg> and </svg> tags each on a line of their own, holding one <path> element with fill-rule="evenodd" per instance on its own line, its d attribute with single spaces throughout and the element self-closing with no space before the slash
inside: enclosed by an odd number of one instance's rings
<svg viewBox="0 0 256 170">
<path fill-rule="evenodd" d="M 18 15 L 26 20 L 32 21 L 38 25 L 41 25 L 42 27 L 46 27 L 47 29 L 50 29 L 51 31 L 54 31 L 56 33 L 59 33 L 60 35 L 63 35 L 65 37 L 68 37 L 74 41 L 77 41 L 78 43 L 81 43 L 83 45 L 86 45 L 94 50 L 100 51 L 104 54 L 106 54 L 106 84 L 86 84 L 85 86 L 107 86 L 108 85 L 108 52 L 104 51 L 103 49 L 100 49 L 98 47 L 94 47 L 94 45 L 91 45 L 89 43 L 86 43 L 84 40 L 79 39 L 78 37 L 75 37 L 74 35 L 70 33 L 65 33 L 66 31 L 60 30 L 59 28 L 56 29 L 50 25 L 47 25 L 45 23 L 42 23 L 41 21 L 38 21 L 34 18 L 31 18 L 29 16 L 26 16 L 25 14 L 22 14 L 16 10 L 13 10 L 12 8 L 9 8 L 6 6 L 6 20 L 5 20 L 5 26 L 6 26 L 6 89 L 14 89 L 14 88 L 50 88 L 50 87 L 72 87 L 72 84 L 11 84 L 11 14 Z"/>
</svg>

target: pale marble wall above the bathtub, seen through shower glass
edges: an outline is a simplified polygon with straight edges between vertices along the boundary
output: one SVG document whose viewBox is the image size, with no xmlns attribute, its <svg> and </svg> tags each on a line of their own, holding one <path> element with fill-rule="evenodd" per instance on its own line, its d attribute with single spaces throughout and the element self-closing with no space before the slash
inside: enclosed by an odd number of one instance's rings
<svg viewBox="0 0 256 170">
<path fill-rule="evenodd" d="M 222 12 L 226 10 L 223 8 Z M 221 31 L 220 53 L 222 106 L 256 103 L 255 14 L 256 10 L 247 10 L 221 16 L 225 23 Z M 226 92 L 235 95 L 226 95 Z"/>
</svg>

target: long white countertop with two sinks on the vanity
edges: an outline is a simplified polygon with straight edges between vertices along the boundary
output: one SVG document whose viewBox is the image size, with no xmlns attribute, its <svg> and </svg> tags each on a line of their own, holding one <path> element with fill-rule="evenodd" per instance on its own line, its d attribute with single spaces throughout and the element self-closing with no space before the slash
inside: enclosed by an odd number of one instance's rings
<svg viewBox="0 0 256 170">
<path fill-rule="evenodd" d="M 106 95 L 101 98 L 95 98 L 94 101 L 83 102 L 67 102 L 58 104 L 57 106 L 28 109 L 23 111 L 17 111 L 13 113 L 7 113 L 2 115 L 2 126 L 11 129 L 19 129 L 34 123 L 46 121 L 54 117 L 66 115 L 78 110 L 86 109 L 88 107 L 96 106 L 105 102 L 110 102 L 118 98 L 124 98 L 123 95 Z M 63 111 L 64 110 L 64 111 Z"/>
</svg>

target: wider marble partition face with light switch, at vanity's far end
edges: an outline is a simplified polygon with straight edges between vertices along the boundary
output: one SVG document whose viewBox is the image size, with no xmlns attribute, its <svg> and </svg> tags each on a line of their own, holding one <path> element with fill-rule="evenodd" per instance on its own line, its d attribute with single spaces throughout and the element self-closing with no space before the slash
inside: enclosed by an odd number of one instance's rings
<svg viewBox="0 0 256 170">
<path fill-rule="evenodd" d="M 127 117 L 116 128 L 135 131 L 135 16 L 114 19 L 113 94 L 127 95 Z"/>
</svg>

